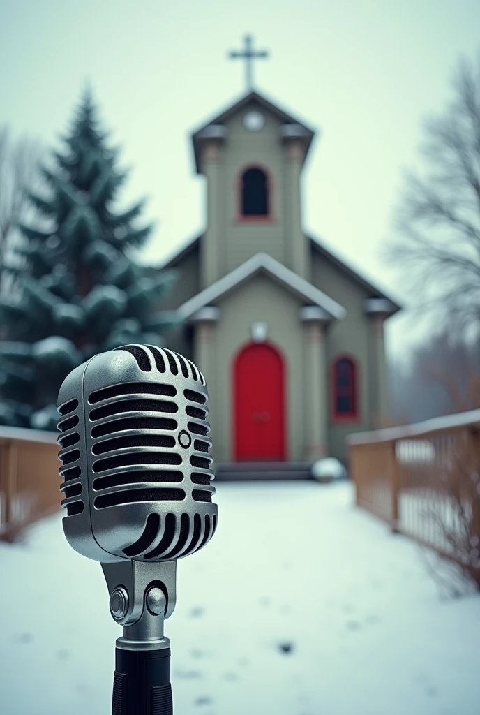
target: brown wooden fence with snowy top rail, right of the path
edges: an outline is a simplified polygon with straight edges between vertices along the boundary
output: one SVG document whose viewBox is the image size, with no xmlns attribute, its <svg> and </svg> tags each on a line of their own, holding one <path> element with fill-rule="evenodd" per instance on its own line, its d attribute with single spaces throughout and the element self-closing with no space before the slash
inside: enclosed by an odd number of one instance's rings
<svg viewBox="0 0 480 715">
<path fill-rule="evenodd" d="M 455 561 L 479 560 L 480 410 L 348 443 L 359 506 Z"/>
</svg>

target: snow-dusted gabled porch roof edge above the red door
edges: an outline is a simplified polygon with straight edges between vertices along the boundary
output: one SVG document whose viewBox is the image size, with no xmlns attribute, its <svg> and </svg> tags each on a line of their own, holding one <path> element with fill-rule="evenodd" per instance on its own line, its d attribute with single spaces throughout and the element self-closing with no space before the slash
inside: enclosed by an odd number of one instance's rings
<svg viewBox="0 0 480 715">
<path fill-rule="evenodd" d="M 218 300 L 234 288 L 249 280 L 258 273 L 266 273 L 273 280 L 279 282 L 290 292 L 300 297 L 309 304 L 317 305 L 326 313 L 327 318 L 342 320 L 346 315 L 346 310 L 336 300 L 333 300 L 324 292 L 314 287 L 308 281 L 296 275 L 289 268 L 286 268 L 279 261 L 266 253 L 256 253 L 246 262 L 234 268 L 231 272 L 221 277 L 216 282 L 204 288 L 194 295 L 178 309 L 179 317 L 184 320 L 191 317 L 201 308 Z"/>
</svg>

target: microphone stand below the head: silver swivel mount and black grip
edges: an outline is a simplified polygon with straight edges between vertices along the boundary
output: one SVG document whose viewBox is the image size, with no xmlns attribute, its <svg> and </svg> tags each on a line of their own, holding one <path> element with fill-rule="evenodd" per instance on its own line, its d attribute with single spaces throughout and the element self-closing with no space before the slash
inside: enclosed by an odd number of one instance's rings
<svg viewBox="0 0 480 715">
<path fill-rule="evenodd" d="M 170 641 L 164 620 L 174 611 L 176 561 L 102 563 L 110 613 L 124 626 L 116 639 L 112 715 L 173 715 Z"/>
</svg>

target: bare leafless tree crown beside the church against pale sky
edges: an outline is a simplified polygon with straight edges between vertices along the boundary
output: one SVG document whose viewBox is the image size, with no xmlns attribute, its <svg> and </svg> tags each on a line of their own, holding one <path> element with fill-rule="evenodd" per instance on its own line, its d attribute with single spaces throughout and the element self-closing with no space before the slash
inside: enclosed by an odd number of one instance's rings
<svg viewBox="0 0 480 715">
<path fill-rule="evenodd" d="M 425 124 L 424 171 L 406 174 L 386 257 L 422 307 L 480 335 L 480 54 L 452 84 L 449 106 Z"/>
</svg>

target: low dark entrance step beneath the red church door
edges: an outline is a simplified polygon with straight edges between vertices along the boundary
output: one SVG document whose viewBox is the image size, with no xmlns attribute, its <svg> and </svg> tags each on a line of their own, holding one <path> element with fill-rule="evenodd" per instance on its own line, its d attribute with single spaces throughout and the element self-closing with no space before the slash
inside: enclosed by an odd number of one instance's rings
<svg viewBox="0 0 480 715">
<path fill-rule="evenodd" d="M 309 462 L 234 462 L 214 464 L 219 481 L 311 479 Z"/>
</svg>

